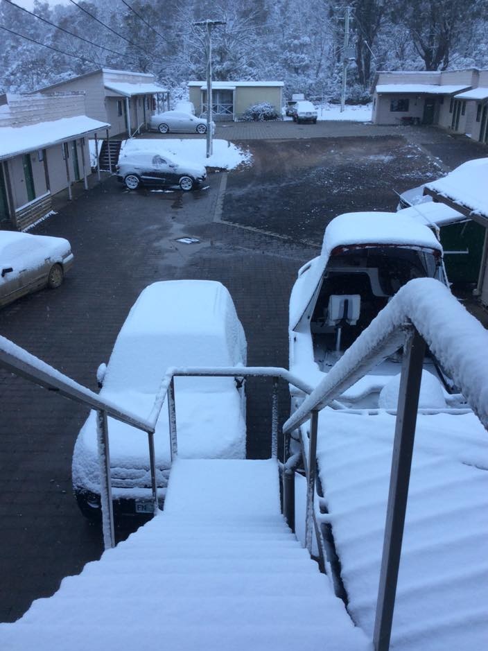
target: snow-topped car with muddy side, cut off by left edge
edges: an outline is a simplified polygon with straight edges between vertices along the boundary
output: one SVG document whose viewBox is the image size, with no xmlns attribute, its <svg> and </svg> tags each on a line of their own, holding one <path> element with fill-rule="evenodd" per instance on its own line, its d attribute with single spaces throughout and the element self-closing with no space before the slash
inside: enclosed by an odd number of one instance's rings
<svg viewBox="0 0 488 651">
<path fill-rule="evenodd" d="M 43 287 L 56 288 L 73 263 L 62 237 L 0 231 L 0 306 Z"/>
</svg>

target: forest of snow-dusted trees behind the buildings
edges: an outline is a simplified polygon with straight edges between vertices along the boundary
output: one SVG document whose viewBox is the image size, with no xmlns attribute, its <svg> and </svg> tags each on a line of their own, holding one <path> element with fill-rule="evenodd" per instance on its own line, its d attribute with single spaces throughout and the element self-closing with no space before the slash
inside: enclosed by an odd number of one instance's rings
<svg viewBox="0 0 488 651">
<path fill-rule="evenodd" d="M 193 23 L 210 18 L 226 22 L 215 79 L 284 80 L 287 94 L 335 101 L 347 5 L 348 101 L 367 101 L 377 70 L 488 67 L 488 0 L 36 0 L 37 17 L 1 0 L 0 92 L 110 67 L 154 73 L 180 96 L 205 76 Z"/>
</svg>

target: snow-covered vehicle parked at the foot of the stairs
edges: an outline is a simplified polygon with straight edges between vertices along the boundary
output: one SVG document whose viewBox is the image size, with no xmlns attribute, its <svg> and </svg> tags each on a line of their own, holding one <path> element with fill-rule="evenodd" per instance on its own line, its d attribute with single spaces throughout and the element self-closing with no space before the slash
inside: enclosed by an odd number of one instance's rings
<svg viewBox="0 0 488 651">
<path fill-rule="evenodd" d="M 247 344 L 232 297 L 215 281 L 154 283 L 143 290 L 116 338 L 106 370 L 97 373 L 101 396 L 147 417 L 170 367 L 245 365 Z M 179 458 L 244 458 L 242 379 L 175 378 Z M 116 514 L 152 512 L 146 436 L 109 418 L 112 496 Z M 171 467 L 168 406 L 155 432 L 158 499 Z M 73 452 L 73 489 L 87 517 L 100 514 L 96 414 L 82 426 Z"/>
</svg>

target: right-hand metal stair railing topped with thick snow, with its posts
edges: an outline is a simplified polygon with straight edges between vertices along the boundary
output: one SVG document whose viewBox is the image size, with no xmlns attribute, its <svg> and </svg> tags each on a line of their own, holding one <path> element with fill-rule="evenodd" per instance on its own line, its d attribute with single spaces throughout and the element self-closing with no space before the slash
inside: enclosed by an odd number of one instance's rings
<svg viewBox="0 0 488 651">
<path fill-rule="evenodd" d="M 463 343 L 453 336 L 453 331 L 458 331 L 459 336 L 464 338 L 464 351 L 470 369 L 462 363 L 460 350 L 463 349 Z M 480 342 L 483 345 L 480 346 Z M 442 358 L 446 371 L 458 385 L 480 422 L 488 429 L 488 404 L 484 393 L 488 387 L 488 368 L 485 360 L 481 358 L 478 363 L 469 354 L 473 346 L 477 350 L 488 350 L 488 333 L 444 285 L 433 279 L 413 280 L 401 288 L 315 390 L 304 399 L 283 427 L 284 446 L 289 449 L 291 434 L 306 422 L 310 422 L 304 466 L 307 480 L 305 536 L 306 546 L 311 552 L 312 530 L 315 528 L 317 534 L 319 528 L 314 511 L 319 412 L 330 406 L 332 401 L 372 370 L 383 358 L 403 346 L 390 489 L 376 602 L 373 637 L 375 651 L 387 651 L 390 647 L 426 345 L 437 357 Z M 301 439 L 304 439 L 303 431 Z M 296 465 L 295 455 L 295 458 L 286 461 L 286 471 L 290 473 Z M 284 503 L 285 509 L 290 512 L 294 510 L 294 504 L 293 495 L 287 494 L 288 489 L 289 483 L 285 482 Z"/>
</svg>

